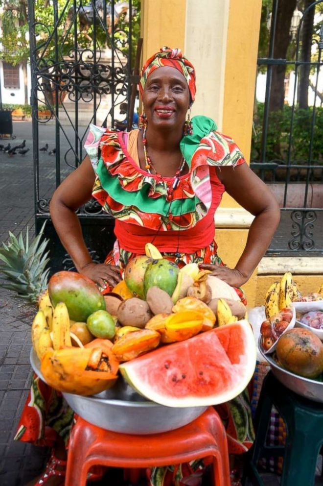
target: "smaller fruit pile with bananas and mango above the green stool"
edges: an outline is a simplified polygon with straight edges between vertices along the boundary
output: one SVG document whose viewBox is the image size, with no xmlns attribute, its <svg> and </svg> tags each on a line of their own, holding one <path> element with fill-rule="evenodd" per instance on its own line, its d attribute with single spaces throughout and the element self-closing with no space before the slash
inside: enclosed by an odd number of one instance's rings
<svg viewBox="0 0 323 486">
<path fill-rule="evenodd" d="M 277 364 L 292 373 L 322 381 L 323 378 L 323 285 L 318 292 L 302 296 L 290 272 L 267 291 L 267 319 L 261 324 L 261 346 L 275 351 Z M 292 309 L 296 309 L 296 318 Z M 304 312 L 302 308 L 315 308 Z M 322 308 L 322 311 L 318 309 Z M 294 314 L 295 314 L 294 309 Z M 301 327 L 294 327 L 301 326 Z M 322 327 L 321 327 L 322 326 Z"/>
</svg>

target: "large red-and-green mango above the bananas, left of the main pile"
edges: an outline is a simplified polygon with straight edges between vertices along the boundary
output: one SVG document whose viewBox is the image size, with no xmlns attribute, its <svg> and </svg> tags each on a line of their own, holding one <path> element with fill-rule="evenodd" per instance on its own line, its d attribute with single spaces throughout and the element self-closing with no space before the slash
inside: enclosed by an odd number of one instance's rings
<svg viewBox="0 0 323 486">
<path fill-rule="evenodd" d="M 69 318 L 76 322 L 86 322 L 93 312 L 106 309 L 104 297 L 94 282 L 80 273 L 55 273 L 49 280 L 48 293 L 53 306 L 64 302 Z"/>
</svg>

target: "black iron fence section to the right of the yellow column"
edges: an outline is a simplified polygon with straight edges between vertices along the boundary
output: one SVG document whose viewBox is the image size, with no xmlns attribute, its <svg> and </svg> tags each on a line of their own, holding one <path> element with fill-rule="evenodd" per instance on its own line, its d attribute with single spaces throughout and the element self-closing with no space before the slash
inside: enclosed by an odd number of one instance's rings
<svg viewBox="0 0 323 486">
<path fill-rule="evenodd" d="M 264 104 L 255 102 L 251 168 L 271 185 L 280 199 L 281 222 L 267 253 L 308 256 L 323 252 L 323 1 L 305 0 L 306 8 L 302 13 L 297 9 L 300 2 L 294 1 L 291 29 L 294 28 L 295 41 L 292 48 L 288 48 L 289 56 L 282 59 L 276 51 L 279 51 L 277 29 L 282 28 L 284 20 L 280 18 L 282 11 L 279 9 L 283 8 L 283 1 L 273 1 L 268 22 L 268 57 L 259 58 L 257 62 L 258 73 L 266 70 L 267 77 Z M 285 7 L 288 3 L 293 1 L 285 2 Z M 321 7 L 321 13 L 317 6 Z M 294 16 L 298 17 L 299 26 L 295 25 Z M 292 30 L 290 35 L 293 35 Z M 287 99 L 284 99 L 283 108 L 277 110 L 275 100 L 273 102 L 277 96 L 277 77 L 289 70 L 295 73 L 294 85 L 288 91 L 286 81 L 293 75 L 285 76 L 282 96 L 285 94 Z M 304 76 L 310 76 L 305 89 L 310 87 L 312 94 L 307 109 L 301 106 L 301 99 L 305 99 L 300 92 L 300 85 L 306 86 L 301 82 Z"/>
</svg>

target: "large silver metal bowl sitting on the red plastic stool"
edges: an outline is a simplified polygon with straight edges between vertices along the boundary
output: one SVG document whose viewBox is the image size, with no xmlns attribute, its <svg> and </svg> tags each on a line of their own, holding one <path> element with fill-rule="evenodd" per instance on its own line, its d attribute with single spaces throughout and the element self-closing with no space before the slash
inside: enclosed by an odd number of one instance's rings
<svg viewBox="0 0 323 486">
<path fill-rule="evenodd" d="M 30 363 L 45 382 L 40 361 L 33 348 Z M 160 434 L 178 429 L 199 417 L 208 407 L 174 408 L 147 401 L 121 377 L 115 386 L 97 395 L 81 396 L 63 393 L 70 408 L 102 429 L 126 434 Z"/>
</svg>

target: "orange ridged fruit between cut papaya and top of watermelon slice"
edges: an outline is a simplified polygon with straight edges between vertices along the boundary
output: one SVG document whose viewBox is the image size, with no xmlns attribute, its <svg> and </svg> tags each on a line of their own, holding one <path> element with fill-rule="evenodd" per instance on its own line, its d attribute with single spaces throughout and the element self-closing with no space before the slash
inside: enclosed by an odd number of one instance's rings
<svg viewBox="0 0 323 486">
<path fill-rule="evenodd" d="M 117 340 L 112 348 L 118 361 L 130 361 L 141 354 L 155 349 L 161 340 L 157 331 L 152 329 L 140 329 L 137 332 L 128 333 Z"/>
</svg>

